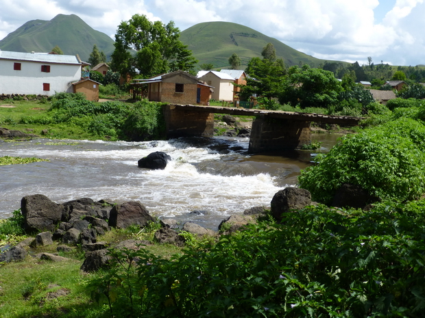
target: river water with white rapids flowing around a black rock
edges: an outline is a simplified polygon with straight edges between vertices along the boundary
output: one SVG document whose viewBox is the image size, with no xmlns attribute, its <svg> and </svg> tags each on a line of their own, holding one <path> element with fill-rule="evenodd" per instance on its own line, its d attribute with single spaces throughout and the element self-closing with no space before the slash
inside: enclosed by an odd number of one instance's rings
<svg viewBox="0 0 425 318">
<path fill-rule="evenodd" d="M 313 134 L 326 152 L 337 135 Z M 179 138 L 154 142 L 35 139 L 0 141 L 0 156 L 48 159 L 0 165 L 0 219 L 21 198 L 44 194 L 63 203 L 77 198 L 141 202 L 151 215 L 195 222 L 217 230 L 221 220 L 250 207 L 269 206 L 280 189 L 297 184 L 311 165 L 310 151 L 248 155 L 247 138 Z M 138 168 L 154 151 L 171 156 L 165 170 Z M 202 213 L 191 213 L 202 211 Z"/>
</svg>

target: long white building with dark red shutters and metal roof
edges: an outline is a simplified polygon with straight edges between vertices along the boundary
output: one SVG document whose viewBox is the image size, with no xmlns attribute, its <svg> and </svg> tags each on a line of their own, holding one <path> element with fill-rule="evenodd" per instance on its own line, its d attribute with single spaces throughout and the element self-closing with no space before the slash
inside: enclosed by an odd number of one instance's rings
<svg viewBox="0 0 425 318">
<path fill-rule="evenodd" d="M 0 51 L 0 94 L 73 92 L 81 68 L 74 55 Z"/>
</svg>

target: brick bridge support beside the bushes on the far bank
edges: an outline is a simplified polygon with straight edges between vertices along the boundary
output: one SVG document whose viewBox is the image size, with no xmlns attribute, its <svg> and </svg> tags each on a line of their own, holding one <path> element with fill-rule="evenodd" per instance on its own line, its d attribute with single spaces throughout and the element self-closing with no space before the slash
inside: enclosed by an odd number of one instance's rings
<svg viewBox="0 0 425 318">
<path fill-rule="evenodd" d="M 214 114 L 166 105 L 163 109 L 167 138 L 214 135 Z"/>
</svg>

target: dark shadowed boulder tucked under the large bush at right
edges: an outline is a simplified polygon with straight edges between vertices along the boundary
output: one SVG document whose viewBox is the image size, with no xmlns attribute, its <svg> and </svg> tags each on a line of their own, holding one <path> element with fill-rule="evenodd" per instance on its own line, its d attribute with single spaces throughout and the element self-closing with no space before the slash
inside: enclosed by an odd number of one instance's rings
<svg viewBox="0 0 425 318">
<path fill-rule="evenodd" d="M 344 183 L 335 193 L 332 200 L 333 207 L 352 207 L 363 209 L 368 204 L 379 201 L 380 198 L 372 196 L 359 185 Z"/>
</svg>

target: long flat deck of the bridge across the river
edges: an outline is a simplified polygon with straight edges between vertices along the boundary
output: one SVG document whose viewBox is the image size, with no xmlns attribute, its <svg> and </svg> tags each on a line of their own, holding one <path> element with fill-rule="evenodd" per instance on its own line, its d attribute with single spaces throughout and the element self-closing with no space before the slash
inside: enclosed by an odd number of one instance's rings
<svg viewBox="0 0 425 318">
<path fill-rule="evenodd" d="M 265 109 L 245 109 L 220 106 L 173 105 L 178 109 L 196 110 L 214 114 L 229 114 L 235 116 L 268 116 L 270 118 L 300 120 L 304 122 L 324 122 L 341 126 L 356 126 L 363 118 L 352 116 L 329 116 L 322 114 L 299 113 L 296 111 L 274 111 Z"/>
</svg>

